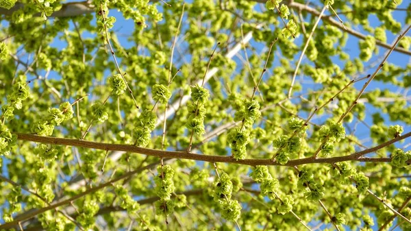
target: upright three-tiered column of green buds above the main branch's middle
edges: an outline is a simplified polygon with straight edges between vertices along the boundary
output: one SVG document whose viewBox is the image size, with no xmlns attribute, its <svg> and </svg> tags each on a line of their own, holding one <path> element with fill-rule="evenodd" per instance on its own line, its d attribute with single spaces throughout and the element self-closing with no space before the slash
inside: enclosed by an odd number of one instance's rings
<svg viewBox="0 0 411 231">
<path fill-rule="evenodd" d="M 192 134 L 196 134 L 197 136 L 206 132 L 206 130 L 204 130 L 204 117 L 206 117 L 204 104 L 206 104 L 208 97 L 210 97 L 210 93 L 208 93 L 206 88 L 198 84 L 191 87 L 192 104 L 188 106 L 188 113 L 190 115 L 186 127 Z"/>
</svg>

